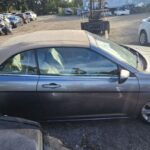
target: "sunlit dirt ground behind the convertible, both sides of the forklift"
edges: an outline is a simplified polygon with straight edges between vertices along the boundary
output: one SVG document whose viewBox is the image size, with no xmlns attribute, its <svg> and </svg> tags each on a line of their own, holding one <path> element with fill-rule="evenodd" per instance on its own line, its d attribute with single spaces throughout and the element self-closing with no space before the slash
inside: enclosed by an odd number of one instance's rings
<svg viewBox="0 0 150 150">
<path fill-rule="evenodd" d="M 111 32 L 110 40 L 122 44 L 138 44 L 138 27 L 142 19 L 150 16 L 148 14 L 137 14 L 130 16 L 108 17 Z M 13 36 L 39 30 L 61 30 L 81 29 L 80 23 L 86 21 L 80 17 L 41 16 L 37 21 L 19 27 L 13 31 L 13 35 L 0 36 L 0 43 L 7 41 Z"/>
</svg>

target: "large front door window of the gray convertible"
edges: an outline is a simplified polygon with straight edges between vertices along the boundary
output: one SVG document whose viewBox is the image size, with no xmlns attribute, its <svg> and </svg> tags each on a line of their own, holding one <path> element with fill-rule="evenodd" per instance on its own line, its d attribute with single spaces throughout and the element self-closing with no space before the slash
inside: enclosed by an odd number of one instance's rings
<svg viewBox="0 0 150 150">
<path fill-rule="evenodd" d="M 38 49 L 42 75 L 115 76 L 118 67 L 104 56 L 86 48 Z"/>
</svg>

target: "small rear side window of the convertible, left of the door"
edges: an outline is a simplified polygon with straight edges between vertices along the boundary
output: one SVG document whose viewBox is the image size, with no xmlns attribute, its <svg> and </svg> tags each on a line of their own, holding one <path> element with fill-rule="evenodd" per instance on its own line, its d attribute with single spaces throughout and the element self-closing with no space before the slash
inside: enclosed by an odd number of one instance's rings
<svg viewBox="0 0 150 150">
<path fill-rule="evenodd" d="M 9 58 L 0 66 L 0 74 L 37 74 L 34 51 L 22 52 Z"/>
</svg>

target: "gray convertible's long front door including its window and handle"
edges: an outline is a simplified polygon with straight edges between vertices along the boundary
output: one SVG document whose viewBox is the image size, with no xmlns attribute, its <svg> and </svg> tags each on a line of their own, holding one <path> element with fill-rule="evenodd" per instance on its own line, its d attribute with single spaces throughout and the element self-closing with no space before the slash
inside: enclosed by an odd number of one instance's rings
<svg viewBox="0 0 150 150">
<path fill-rule="evenodd" d="M 138 81 L 119 84 L 118 65 L 86 48 L 38 49 L 39 98 L 45 119 L 125 116 L 136 106 Z"/>
</svg>

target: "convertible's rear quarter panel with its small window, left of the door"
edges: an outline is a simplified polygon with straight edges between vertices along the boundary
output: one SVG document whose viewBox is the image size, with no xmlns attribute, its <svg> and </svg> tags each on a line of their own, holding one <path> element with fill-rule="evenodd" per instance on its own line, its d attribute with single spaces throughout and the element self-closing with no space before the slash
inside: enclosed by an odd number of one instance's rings
<svg viewBox="0 0 150 150">
<path fill-rule="evenodd" d="M 32 50 L 16 54 L 3 63 L 0 66 L 0 113 L 29 119 L 38 116 L 38 78 Z"/>
</svg>

